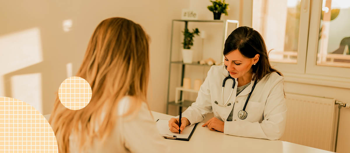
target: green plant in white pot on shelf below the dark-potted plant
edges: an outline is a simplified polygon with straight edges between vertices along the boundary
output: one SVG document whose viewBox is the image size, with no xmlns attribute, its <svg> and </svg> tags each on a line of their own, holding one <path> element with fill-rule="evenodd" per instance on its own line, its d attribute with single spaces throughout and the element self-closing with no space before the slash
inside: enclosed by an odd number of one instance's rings
<svg viewBox="0 0 350 153">
<path fill-rule="evenodd" d="M 193 50 L 191 49 L 191 46 L 193 46 L 193 37 L 195 35 L 199 36 L 199 30 L 198 28 L 193 29 L 193 32 L 190 32 L 187 28 L 185 31 L 182 31 L 184 39 L 183 39 L 183 49 L 182 49 L 182 60 L 183 63 L 192 63 L 192 57 L 193 57 Z"/>
</svg>

